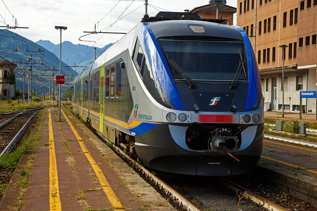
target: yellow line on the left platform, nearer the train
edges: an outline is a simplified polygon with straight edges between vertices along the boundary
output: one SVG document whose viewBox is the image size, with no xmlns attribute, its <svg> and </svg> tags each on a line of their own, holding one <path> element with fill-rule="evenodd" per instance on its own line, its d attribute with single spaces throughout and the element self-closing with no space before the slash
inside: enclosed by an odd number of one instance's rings
<svg viewBox="0 0 317 211">
<path fill-rule="evenodd" d="M 115 193 L 113 192 L 112 188 L 110 187 L 108 181 L 106 180 L 105 175 L 102 173 L 101 169 L 99 168 L 98 164 L 96 164 L 96 162 L 94 161 L 94 158 L 90 155 L 90 153 L 88 152 L 84 142 L 82 141 L 80 135 L 78 135 L 77 131 L 75 130 L 74 126 L 71 124 L 71 122 L 68 120 L 68 118 L 66 117 L 65 113 L 63 111 L 61 111 L 66 119 L 66 121 L 68 122 L 70 128 L 73 130 L 74 135 L 76 136 L 81 150 L 84 152 L 84 155 L 86 155 L 91 167 L 94 169 L 95 174 L 100 182 L 100 185 L 102 187 L 102 190 L 105 192 L 108 201 L 111 203 L 113 208 L 121 208 L 122 205 L 118 199 L 118 197 L 115 195 Z M 124 210 L 124 209 L 115 209 L 115 210 Z"/>
</svg>

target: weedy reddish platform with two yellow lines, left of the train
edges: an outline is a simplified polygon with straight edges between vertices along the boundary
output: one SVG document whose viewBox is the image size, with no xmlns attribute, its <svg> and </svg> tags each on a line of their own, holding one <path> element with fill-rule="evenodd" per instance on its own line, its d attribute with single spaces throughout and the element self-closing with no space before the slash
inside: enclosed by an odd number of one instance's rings
<svg viewBox="0 0 317 211">
<path fill-rule="evenodd" d="M 175 210 L 79 120 L 63 109 L 45 109 L 33 130 L 40 139 L 26 188 L 18 185 L 32 155 L 25 153 L 0 203 L 0 210 Z M 19 202 L 18 197 L 23 202 Z"/>
</svg>

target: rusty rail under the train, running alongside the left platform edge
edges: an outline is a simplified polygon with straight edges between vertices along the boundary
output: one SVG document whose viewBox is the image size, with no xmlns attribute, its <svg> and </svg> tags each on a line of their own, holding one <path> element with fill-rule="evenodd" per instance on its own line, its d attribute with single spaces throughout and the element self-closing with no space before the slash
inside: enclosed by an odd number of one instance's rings
<svg viewBox="0 0 317 211">
<path fill-rule="evenodd" d="M 101 139 L 106 140 L 109 143 L 110 142 L 107 138 L 105 138 L 103 135 L 101 135 L 98 132 L 98 135 Z M 160 187 L 161 190 L 165 191 L 166 195 L 170 195 L 172 198 L 174 198 L 174 201 L 177 201 L 179 203 L 179 206 L 185 207 L 188 211 L 203 211 L 199 207 L 197 207 L 194 203 L 192 203 L 190 200 L 188 200 L 185 196 L 183 196 L 181 193 L 179 193 L 176 189 L 172 188 L 169 184 L 167 184 L 165 181 L 160 179 L 159 177 L 155 176 L 144 168 L 142 165 L 140 165 L 135 160 L 131 159 L 129 155 L 127 155 L 121 148 L 113 144 L 113 148 L 118 150 L 121 155 L 125 156 L 129 161 L 131 161 L 135 166 L 137 166 L 140 170 L 143 171 L 143 174 L 146 175 L 147 178 L 152 178 L 154 182 Z"/>
</svg>

